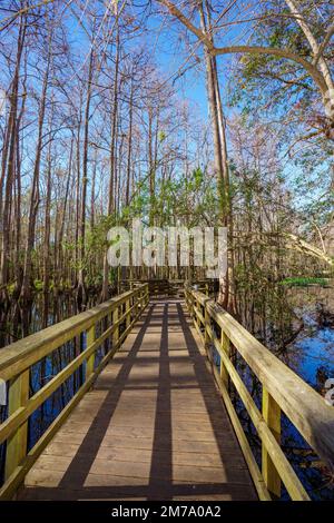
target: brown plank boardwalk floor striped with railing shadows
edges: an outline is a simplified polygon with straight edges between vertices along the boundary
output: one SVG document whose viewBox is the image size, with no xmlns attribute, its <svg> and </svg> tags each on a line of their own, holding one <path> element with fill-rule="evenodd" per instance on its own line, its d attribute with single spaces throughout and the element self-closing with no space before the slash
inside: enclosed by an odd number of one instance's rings
<svg viewBox="0 0 334 523">
<path fill-rule="evenodd" d="M 151 302 L 26 476 L 23 500 L 256 500 L 184 304 Z"/>
</svg>

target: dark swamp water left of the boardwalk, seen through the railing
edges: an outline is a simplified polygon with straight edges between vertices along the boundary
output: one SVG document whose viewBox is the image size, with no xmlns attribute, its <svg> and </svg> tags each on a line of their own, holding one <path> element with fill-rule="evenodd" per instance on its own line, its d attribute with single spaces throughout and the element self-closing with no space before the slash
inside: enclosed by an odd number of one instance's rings
<svg viewBox="0 0 334 523">
<path fill-rule="evenodd" d="M 97 303 L 97 296 L 91 294 L 87 308 Z M 6 346 L 23 337 L 24 334 L 33 334 L 46 326 L 59 323 L 70 316 L 79 314 L 77 302 L 69 294 L 51 297 L 47 322 L 43 316 L 43 299 L 40 294 L 36 296 L 29 310 L 20 310 L 12 305 L 0 324 L 1 345 Z M 28 332 L 27 332 L 28 326 Z M 97 327 L 98 335 L 99 327 Z M 30 397 L 42 386 L 50 382 L 62 368 L 65 368 L 78 354 L 86 348 L 86 334 L 82 333 L 75 339 L 63 344 L 50 355 L 31 366 L 30 369 Z M 0 348 L 1 351 L 1 348 Z M 98 365 L 104 347 L 98 349 L 96 365 Z M 33 447 L 46 430 L 56 420 L 68 402 L 84 383 L 86 364 L 81 365 L 60 387 L 30 416 L 28 422 L 28 451 Z M 0 406 L 0 421 L 8 417 L 8 407 Z M 6 443 L 0 445 L 0 484 L 3 482 L 3 465 Z"/>
</svg>

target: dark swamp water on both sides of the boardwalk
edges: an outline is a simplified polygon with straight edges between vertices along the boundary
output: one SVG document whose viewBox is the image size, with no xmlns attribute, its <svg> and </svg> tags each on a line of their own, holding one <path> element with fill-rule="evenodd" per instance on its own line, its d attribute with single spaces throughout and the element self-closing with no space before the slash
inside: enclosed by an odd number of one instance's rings
<svg viewBox="0 0 334 523">
<path fill-rule="evenodd" d="M 274 354 L 288 365 L 296 374 L 307 382 L 320 394 L 324 395 L 324 384 L 327 378 L 334 377 L 334 296 L 333 288 L 279 288 L 279 299 L 266 304 L 266 319 L 263 317 L 252 322 L 244 315 L 242 323 L 253 334 L 268 346 Z M 277 295 L 278 295 L 277 294 Z M 271 294 L 272 295 L 272 294 Z M 282 299 L 282 295 L 284 299 Z M 31 308 L 29 322 L 30 333 L 42 327 L 40 297 Z M 89 307 L 95 304 L 91 299 Z M 48 324 L 60 322 L 73 314 L 78 314 L 75 299 L 70 296 L 52 299 Z M 0 326 L 2 345 L 20 337 L 20 325 L 13 332 L 10 317 Z M 9 334 L 10 333 L 10 334 Z M 30 394 L 36 393 L 63 368 L 80 351 L 86 347 L 85 334 L 67 343 L 50 356 L 32 367 Z M 99 349 L 97 361 L 108 351 L 105 345 Z M 218 364 L 218 357 L 216 358 Z M 242 358 L 236 362 L 237 369 L 246 383 L 258 407 L 261 407 L 262 387 L 249 367 Z M 38 408 L 29 420 L 28 448 L 31 448 L 47 427 L 57 417 L 59 412 L 70 401 L 85 378 L 82 365 L 68 378 L 52 396 Z M 240 416 L 244 430 L 254 454 L 261 464 L 261 442 L 242 402 L 234 394 L 234 403 Z M 334 408 L 334 406 L 333 406 Z M 7 407 L 0 406 L 0 420 L 7 417 Z M 282 446 L 296 473 L 301 477 L 308 494 L 315 500 L 333 500 L 333 477 L 323 468 L 317 456 L 310 450 L 288 420 L 282 420 Z M 0 446 L 0 474 L 3 476 L 3 457 L 6 445 Z M 2 464 L 2 467 L 1 467 Z M 283 499 L 288 496 L 283 490 Z"/>
</svg>

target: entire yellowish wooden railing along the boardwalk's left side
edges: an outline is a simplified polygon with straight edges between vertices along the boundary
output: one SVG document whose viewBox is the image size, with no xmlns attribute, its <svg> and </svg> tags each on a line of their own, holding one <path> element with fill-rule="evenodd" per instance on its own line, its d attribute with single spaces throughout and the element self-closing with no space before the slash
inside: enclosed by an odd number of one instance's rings
<svg viewBox="0 0 334 523">
<path fill-rule="evenodd" d="M 0 444 L 7 441 L 4 484 L 0 489 L 0 499 L 8 500 L 13 496 L 46 445 L 121 346 L 148 299 L 148 285 L 140 285 L 0 351 L 0 378 L 9 383 L 8 417 L 0 425 Z M 98 337 L 97 327 L 102 330 Z M 31 366 L 82 333 L 86 333 L 86 348 L 30 396 Z M 107 339 L 111 341 L 110 348 L 98 362 L 97 351 Z M 82 366 L 84 383 L 35 446 L 27 452 L 29 417 Z"/>
</svg>

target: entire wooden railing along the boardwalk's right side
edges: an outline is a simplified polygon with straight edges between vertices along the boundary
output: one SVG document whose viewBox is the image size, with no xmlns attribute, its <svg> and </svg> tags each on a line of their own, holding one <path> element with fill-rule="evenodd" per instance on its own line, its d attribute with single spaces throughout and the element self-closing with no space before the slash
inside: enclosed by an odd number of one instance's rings
<svg viewBox="0 0 334 523">
<path fill-rule="evenodd" d="M 281 413 L 285 413 L 304 440 L 333 471 L 334 407 L 327 405 L 320 394 L 213 299 L 189 286 L 185 288 L 185 296 L 259 499 L 279 496 L 283 482 L 292 500 L 308 500 L 303 484 L 281 448 Z M 219 355 L 219 367 L 214 362 L 213 347 Z M 262 412 L 232 362 L 232 348 L 244 358 L 262 384 Z M 257 465 L 232 402 L 229 383 L 238 393 L 261 438 L 262 468 Z"/>
</svg>

